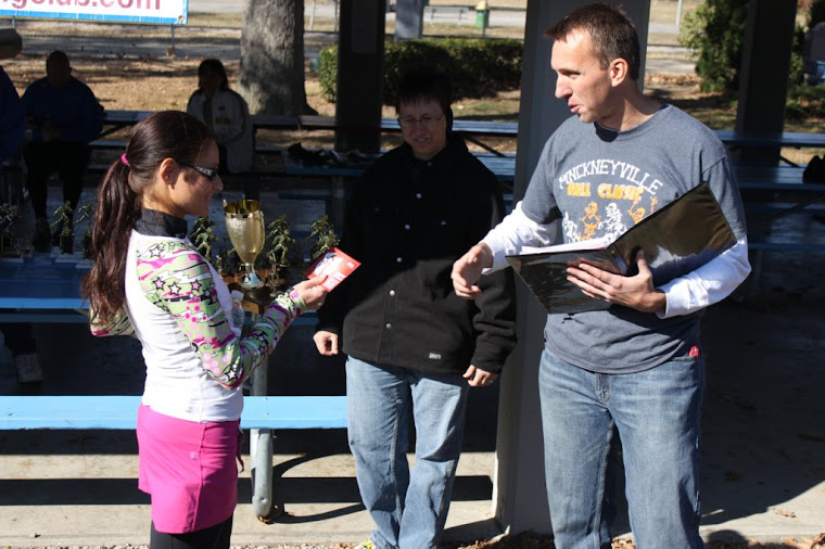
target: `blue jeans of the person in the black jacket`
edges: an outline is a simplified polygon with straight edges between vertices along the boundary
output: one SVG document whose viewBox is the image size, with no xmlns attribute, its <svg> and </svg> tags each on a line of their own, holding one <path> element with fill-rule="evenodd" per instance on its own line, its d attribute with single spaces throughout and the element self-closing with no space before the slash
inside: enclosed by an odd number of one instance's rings
<svg viewBox="0 0 825 549">
<path fill-rule="evenodd" d="M 459 374 L 431 374 L 348 357 L 350 448 L 380 549 L 439 545 L 461 454 L 469 385 Z M 407 464 L 409 410 L 416 463 Z"/>
</svg>

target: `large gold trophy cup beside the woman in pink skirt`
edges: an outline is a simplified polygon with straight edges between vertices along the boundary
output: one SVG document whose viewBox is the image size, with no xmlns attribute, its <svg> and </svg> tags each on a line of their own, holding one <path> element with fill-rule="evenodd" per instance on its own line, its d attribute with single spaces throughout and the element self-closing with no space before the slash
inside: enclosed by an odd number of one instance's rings
<svg viewBox="0 0 825 549">
<path fill-rule="evenodd" d="M 241 290 L 252 301 L 271 298 L 269 289 L 255 274 L 255 258 L 264 250 L 264 210 L 256 200 L 224 201 L 224 217 L 229 240 L 232 241 L 238 257 L 243 261 Z M 265 295 L 266 294 L 266 295 Z"/>
</svg>

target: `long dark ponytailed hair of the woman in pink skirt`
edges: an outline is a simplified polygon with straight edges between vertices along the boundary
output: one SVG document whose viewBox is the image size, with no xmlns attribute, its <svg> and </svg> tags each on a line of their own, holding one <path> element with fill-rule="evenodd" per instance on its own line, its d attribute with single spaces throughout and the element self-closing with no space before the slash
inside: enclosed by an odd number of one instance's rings
<svg viewBox="0 0 825 549">
<path fill-rule="evenodd" d="M 206 143 L 214 140 L 212 130 L 187 113 L 154 113 L 135 126 L 126 153 L 109 167 L 98 187 L 94 208 L 94 265 L 80 288 L 101 322 L 112 321 L 126 298 L 129 237 L 161 163 L 166 158 L 194 163 Z"/>
</svg>

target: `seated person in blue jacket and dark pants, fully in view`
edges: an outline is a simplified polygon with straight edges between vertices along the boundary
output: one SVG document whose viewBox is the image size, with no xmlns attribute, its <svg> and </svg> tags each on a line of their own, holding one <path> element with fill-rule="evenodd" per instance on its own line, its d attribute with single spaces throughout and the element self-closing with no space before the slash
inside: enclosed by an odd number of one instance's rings
<svg viewBox="0 0 825 549">
<path fill-rule="evenodd" d="M 91 148 L 103 128 L 103 107 L 84 82 L 72 76 L 68 56 L 53 51 L 46 59 L 46 78 L 33 82 L 23 94 L 30 140 L 23 148 L 28 170 L 28 190 L 37 218 L 33 245 L 48 252 L 60 234 L 49 234 L 46 213 L 47 180 L 56 171 L 63 182 L 63 202 L 77 208 L 82 176 Z M 50 243 L 51 240 L 51 243 Z"/>
</svg>

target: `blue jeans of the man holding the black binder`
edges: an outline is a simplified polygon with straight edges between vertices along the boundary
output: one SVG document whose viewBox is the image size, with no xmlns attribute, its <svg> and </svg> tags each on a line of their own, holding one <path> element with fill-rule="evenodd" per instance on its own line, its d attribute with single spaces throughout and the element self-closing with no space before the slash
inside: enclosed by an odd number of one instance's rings
<svg viewBox="0 0 825 549">
<path fill-rule="evenodd" d="M 705 390 L 699 357 L 609 375 L 582 370 L 545 349 L 538 383 L 557 549 L 610 547 L 602 513 L 614 427 L 622 443 L 637 547 L 705 547 L 699 537 L 699 416 Z"/>
</svg>

